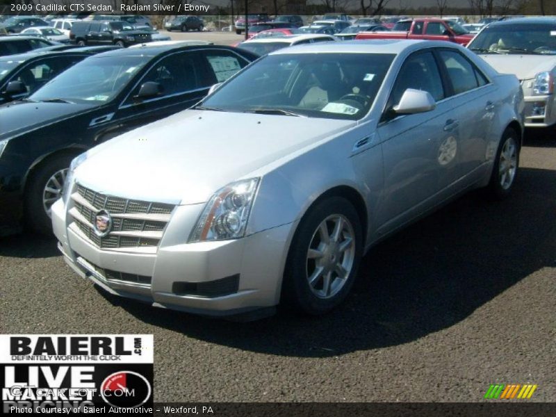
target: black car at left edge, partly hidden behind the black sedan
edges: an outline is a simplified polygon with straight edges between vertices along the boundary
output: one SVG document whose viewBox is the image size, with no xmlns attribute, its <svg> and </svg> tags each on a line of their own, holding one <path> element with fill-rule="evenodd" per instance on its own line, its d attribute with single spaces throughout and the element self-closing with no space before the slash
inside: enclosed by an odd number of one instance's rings
<svg viewBox="0 0 556 417">
<path fill-rule="evenodd" d="M 104 47 L 45 49 L 0 57 L 0 104 L 24 99 L 83 58 L 105 51 Z"/>
</svg>

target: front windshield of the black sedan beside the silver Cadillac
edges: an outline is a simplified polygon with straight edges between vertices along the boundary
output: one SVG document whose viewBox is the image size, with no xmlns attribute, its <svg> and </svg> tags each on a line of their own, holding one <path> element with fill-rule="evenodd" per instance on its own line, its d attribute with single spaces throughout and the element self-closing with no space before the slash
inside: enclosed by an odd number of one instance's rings
<svg viewBox="0 0 556 417">
<path fill-rule="evenodd" d="M 29 98 L 103 104 L 116 97 L 146 61 L 141 56 L 92 56 L 56 76 Z"/>
</svg>

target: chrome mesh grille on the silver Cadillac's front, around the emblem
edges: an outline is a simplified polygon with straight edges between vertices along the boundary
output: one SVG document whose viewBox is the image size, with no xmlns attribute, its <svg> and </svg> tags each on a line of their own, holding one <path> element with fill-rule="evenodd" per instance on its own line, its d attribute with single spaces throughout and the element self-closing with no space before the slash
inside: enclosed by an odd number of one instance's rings
<svg viewBox="0 0 556 417">
<path fill-rule="evenodd" d="M 70 209 L 74 224 L 101 249 L 152 247 L 156 250 L 174 209 L 172 204 L 124 199 L 96 193 L 81 185 L 77 185 L 76 191 Z M 93 226 L 101 210 L 108 211 L 112 218 L 110 233 L 102 237 L 97 235 Z"/>
</svg>

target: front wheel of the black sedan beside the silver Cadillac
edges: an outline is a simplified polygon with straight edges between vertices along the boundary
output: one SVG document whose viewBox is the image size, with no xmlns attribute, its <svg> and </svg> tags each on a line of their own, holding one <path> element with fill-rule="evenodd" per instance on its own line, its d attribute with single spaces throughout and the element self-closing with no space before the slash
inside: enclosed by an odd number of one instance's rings
<svg viewBox="0 0 556 417">
<path fill-rule="evenodd" d="M 25 193 L 25 220 L 41 234 L 52 233 L 50 207 L 62 196 L 63 180 L 74 156 L 64 155 L 39 165 L 31 174 Z M 56 190 L 56 193 L 51 190 Z"/>
</svg>

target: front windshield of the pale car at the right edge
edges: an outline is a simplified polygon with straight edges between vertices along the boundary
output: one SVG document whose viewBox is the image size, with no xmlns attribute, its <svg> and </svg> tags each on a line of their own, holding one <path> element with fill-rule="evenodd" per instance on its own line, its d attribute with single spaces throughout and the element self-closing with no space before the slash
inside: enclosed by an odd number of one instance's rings
<svg viewBox="0 0 556 417">
<path fill-rule="evenodd" d="M 480 54 L 556 55 L 556 24 L 493 24 L 468 45 Z"/>
</svg>

